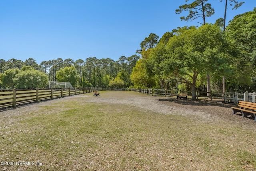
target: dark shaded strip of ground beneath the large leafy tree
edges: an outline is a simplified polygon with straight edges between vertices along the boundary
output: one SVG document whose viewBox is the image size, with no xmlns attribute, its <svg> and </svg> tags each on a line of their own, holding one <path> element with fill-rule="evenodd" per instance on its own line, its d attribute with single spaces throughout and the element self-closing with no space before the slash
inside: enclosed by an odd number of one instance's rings
<svg viewBox="0 0 256 171">
<path fill-rule="evenodd" d="M 193 105 L 193 106 L 219 106 L 219 107 L 227 107 L 234 106 L 234 104 L 228 103 L 220 103 L 220 101 L 209 101 L 209 100 L 192 100 L 192 99 L 176 99 L 174 97 L 165 97 L 159 98 L 158 101 L 168 101 L 172 103 L 178 103 L 181 105 Z"/>
</svg>

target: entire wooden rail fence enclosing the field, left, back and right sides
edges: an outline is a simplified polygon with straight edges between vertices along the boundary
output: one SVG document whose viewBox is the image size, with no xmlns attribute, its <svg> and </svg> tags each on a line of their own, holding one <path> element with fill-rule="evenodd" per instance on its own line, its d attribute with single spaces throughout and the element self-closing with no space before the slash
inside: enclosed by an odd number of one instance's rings
<svg viewBox="0 0 256 171">
<path fill-rule="evenodd" d="M 9 89 L 0 90 L 0 109 L 6 107 L 16 107 L 17 105 L 24 105 L 28 103 L 38 103 L 43 100 L 49 100 L 54 98 L 60 98 L 65 96 L 77 95 L 82 93 L 90 93 L 93 90 L 130 90 L 138 93 L 144 93 L 147 95 L 168 95 L 176 96 L 180 91 L 170 89 L 106 89 L 99 87 L 78 87 L 78 88 L 51 88 L 51 89 Z M 191 92 L 186 92 L 191 95 Z M 210 98 L 212 99 L 223 99 L 223 101 L 238 104 L 238 101 L 252 101 L 256 102 L 256 92 L 248 93 L 220 93 L 211 92 Z M 198 97 L 207 97 L 206 92 L 196 92 Z"/>
</svg>

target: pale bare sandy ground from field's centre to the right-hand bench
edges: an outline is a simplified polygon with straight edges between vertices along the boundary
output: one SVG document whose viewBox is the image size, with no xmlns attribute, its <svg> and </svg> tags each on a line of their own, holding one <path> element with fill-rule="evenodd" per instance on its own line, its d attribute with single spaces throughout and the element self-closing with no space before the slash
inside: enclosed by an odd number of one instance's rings
<svg viewBox="0 0 256 171">
<path fill-rule="evenodd" d="M 161 114 L 195 117 L 201 121 L 218 122 L 220 120 L 227 120 L 246 125 L 256 125 L 251 118 L 242 118 L 241 115 L 233 115 L 232 109 L 230 108 L 232 105 L 218 101 L 192 101 L 191 99 L 183 100 L 162 96 L 152 97 L 129 91 L 112 91 L 111 95 L 105 95 L 103 93 L 100 97 L 88 99 L 88 101 L 127 104 Z"/>
</svg>

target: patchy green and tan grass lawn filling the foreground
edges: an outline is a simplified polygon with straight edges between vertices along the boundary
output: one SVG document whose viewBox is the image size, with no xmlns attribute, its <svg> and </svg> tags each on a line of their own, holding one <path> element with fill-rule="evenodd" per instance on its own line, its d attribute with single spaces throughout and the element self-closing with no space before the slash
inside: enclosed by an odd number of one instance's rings
<svg viewBox="0 0 256 171">
<path fill-rule="evenodd" d="M 114 98 L 111 91 L 100 95 Z M 256 125 L 248 130 L 79 96 L 1 119 L 0 160 L 15 164 L 0 170 L 256 169 Z M 31 163 L 16 163 L 22 161 Z"/>
</svg>

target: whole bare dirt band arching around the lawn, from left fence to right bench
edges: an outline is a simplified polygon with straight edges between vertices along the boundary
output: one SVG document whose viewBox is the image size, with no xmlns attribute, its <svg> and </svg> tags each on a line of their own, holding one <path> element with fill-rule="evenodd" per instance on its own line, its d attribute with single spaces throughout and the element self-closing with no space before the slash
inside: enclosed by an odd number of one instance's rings
<svg viewBox="0 0 256 171">
<path fill-rule="evenodd" d="M 240 115 L 232 115 L 230 105 L 214 101 L 192 101 L 190 99 L 176 99 L 173 97 L 152 97 L 136 93 L 133 91 L 100 91 L 100 96 L 93 97 L 92 93 L 74 95 L 72 97 L 64 97 L 41 103 L 21 106 L 17 109 L 10 109 L 0 112 L 0 121 L 13 115 L 22 115 L 24 113 L 32 113 L 38 111 L 40 106 L 51 106 L 62 101 L 72 101 L 74 98 L 81 98 L 84 103 L 116 103 L 124 105 L 132 105 L 139 107 L 148 112 L 156 112 L 161 114 L 181 115 L 184 117 L 196 118 L 200 121 L 218 122 L 226 120 L 228 122 L 241 123 L 241 126 L 248 126 L 256 129 L 256 123 L 251 118 L 242 118 Z M 62 110 L 60 108 L 60 110 Z"/>
</svg>

